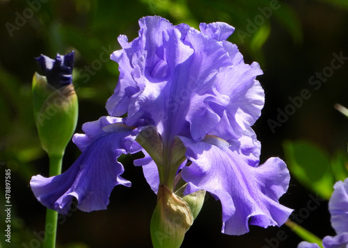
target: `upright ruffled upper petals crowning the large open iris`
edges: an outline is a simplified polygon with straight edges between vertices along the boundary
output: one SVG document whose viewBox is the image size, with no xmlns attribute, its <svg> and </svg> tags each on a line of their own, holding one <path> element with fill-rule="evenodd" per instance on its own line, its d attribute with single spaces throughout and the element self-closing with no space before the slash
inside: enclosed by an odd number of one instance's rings
<svg viewBox="0 0 348 248">
<path fill-rule="evenodd" d="M 169 141 L 175 135 L 203 140 L 212 129 L 226 140 L 241 137 L 260 116 L 264 93 L 255 81 L 258 63 L 245 64 L 226 41 L 234 28 L 217 22 L 200 24 L 200 32 L 161 17 L 139 24 L 139 37 L 127 42 L 121 35 L 122 50 L 111 55 L 120 78 L 106 104 L 109 114 L 128 112 L 127 125 L 145 119 Z"/>
</svg>

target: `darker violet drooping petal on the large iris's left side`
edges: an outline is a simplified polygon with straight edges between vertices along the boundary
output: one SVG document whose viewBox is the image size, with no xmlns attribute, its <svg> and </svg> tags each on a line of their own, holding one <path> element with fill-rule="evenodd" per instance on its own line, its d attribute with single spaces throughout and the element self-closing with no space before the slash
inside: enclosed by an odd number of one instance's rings
<svg viewBox="0 0 348 248">
<path fill-rule="evenodd" d="M 140 149 L 134 141 L 138 131 L 122 124 L 120 118 L 101 117 L 83 129 L 86 135 L 74 136 L 83 151 L 75 163 L 63 174 L 33 176 L 30 182 L 38 201 L 63 215 L 68 214 L 73 197 L 80 210 L 106 209 L 113 187 L 131 184 L 120 176 L 124 169 L 118 157 Z"/>
</svg>

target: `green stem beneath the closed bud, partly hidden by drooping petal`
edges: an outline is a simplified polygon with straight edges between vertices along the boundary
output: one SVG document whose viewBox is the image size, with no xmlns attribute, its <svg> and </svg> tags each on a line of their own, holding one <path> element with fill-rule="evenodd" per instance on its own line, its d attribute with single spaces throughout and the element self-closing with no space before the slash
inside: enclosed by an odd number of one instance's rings
<svg viewBox="0 0 348 248">
<path fill-rule="evenodd" d="M 49 176 L 56 176 L 58 174 L 61 174 L 62 160 L 63 155 L 49 156 Z M 44 248 L 56 247 L 57 220 L 58 213 L 53 209 L 47 208 Z"/>
</svg>

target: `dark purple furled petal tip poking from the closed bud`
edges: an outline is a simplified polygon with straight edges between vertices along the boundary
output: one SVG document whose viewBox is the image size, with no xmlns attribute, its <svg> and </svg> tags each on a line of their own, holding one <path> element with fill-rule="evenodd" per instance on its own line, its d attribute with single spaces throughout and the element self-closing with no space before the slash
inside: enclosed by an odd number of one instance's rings
<svg viewBox="0 0 348 248">
<path fill-rule="evenodd" d="M 72 83 L 72 68 L 74 67 L 74 51 L 66 55 L 57 53 L 53 60 L 45 55 L 35 58 L 42 68 L 47 82 L 59 89 Z"/>
</svg>

